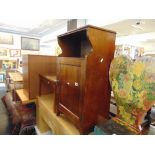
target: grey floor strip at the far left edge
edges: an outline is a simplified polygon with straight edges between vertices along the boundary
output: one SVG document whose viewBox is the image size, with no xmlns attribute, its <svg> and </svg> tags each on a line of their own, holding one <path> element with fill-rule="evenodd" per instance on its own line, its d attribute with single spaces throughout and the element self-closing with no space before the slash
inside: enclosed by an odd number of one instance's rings
<svg viewBox="0 0 155 155">
<path fill-rule="evenodd" d="M 10 135 L 10 120 L 6 107 L 1 98 L 5 95 L 6 88 L 4 83 L 0 83 L 0 135 Z"/>
</svg>

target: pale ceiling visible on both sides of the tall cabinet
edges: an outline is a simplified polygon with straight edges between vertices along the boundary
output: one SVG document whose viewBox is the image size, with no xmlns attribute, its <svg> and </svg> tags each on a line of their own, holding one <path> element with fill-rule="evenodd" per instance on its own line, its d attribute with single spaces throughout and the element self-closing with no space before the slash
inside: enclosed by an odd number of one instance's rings
<svg viewBox="0 0 155 155">
<path fill-rule="evenodd" d="M 20 35 L 28 35 L 34 37 L 43 37 L 46 34 L 58 30 L 67 24 L 67 19 L 0 19 L 0 31 L 9 32 Z M 125 37 L 129 35 L 140 35 L 144 33 L 152 34 L 150 41 L 155 39 L 155 19 L 111 19 L 97 20 L 88 19 L 88 24 L 94 24 L 103 28 L 114 30 L 117 37 Z M 113 23 L 113 24 L 110 24 Z M 108 24 L 108 25 L 107 25 Z"/>
</svg>

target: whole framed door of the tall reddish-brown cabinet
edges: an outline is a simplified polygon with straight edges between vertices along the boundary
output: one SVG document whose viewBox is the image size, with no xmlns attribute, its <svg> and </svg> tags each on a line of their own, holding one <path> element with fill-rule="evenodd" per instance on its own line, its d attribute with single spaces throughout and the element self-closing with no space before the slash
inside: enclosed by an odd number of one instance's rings
<svg viewBox="0 0 155 155">
<path fill-rule="evenodd" d="M 70 59 L 69 59 L 70 60 Z M 60 61 L 59 63 L 59 103 L 58 108 L 74 121 L 81 115 L 82 63 Z"/>
</svg>

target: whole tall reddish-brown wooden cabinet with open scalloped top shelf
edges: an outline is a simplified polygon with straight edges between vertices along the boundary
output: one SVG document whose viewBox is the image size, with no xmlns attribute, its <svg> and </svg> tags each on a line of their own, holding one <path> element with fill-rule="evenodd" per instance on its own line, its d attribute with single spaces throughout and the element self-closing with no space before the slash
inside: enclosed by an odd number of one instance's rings
<svg viewBox="0 0 155 155">
<path fill-rule="evenodd" d="M 108 118 L 115 36 L 91 25 L 58 36 L 57 115 L 65 114 L 81 134 L 88 134 L 98 117 Z"/>
</svg>

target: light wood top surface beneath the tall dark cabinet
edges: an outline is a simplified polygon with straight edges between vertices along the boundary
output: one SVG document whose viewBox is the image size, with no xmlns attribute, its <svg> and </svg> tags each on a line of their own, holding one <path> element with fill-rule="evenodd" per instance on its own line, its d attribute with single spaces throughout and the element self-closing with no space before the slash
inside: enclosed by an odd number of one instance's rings
<svg viewBox="0 0 155 155">
<path fill-rule="evenodd" d="M 54 134 L 79 135 L 78 129 L 64 116 L 57 116 L 54 112 L 54 94 L 38 97 L 41 117 Z"/>
</svg>

